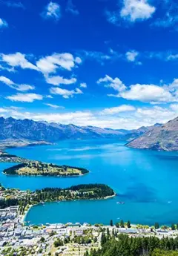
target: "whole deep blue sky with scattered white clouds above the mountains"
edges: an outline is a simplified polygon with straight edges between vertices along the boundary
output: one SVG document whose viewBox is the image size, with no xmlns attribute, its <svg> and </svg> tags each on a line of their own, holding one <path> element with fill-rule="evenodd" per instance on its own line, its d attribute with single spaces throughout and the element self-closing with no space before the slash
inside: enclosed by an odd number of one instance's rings
<svg viewBox="0 0 178 256">
<path fill-rule="evenodd" d="M 0 0 L 0 115 L 139 128 L 178 115 L 178 4 Z"/>
</svg>

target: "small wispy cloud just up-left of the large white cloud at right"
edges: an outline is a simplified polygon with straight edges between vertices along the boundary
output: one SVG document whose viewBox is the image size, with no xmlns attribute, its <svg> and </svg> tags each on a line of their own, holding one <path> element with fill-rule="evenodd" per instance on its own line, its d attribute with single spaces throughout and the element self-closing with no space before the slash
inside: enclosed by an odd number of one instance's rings
<svg viewBox="0 0 178 256">
<path fill-rule="evenodd" d="M 113 90 L 115 91 L 125 91 L 125 85 L 122 83 L 122 81 L 116 77 L 115 79 L 113 79 L 111 76 L 106 75 L 104 78 L 100 78 L 97 81 L 97 84 L 104 84 L 105 87 L 108 88 L 113 88 Z"/>
</svg>

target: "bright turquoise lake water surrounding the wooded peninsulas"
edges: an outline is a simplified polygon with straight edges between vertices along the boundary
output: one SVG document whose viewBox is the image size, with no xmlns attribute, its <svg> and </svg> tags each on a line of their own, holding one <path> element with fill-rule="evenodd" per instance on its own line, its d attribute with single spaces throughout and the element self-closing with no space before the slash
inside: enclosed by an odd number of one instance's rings
<svg viewBox="0 0 178 256">
<path fill-rule="evenodd" d="M 178 223 L 178 152 L 142 151 L 116 140 L 68 140 L 57 145 L 11 148 L 11 154 L 31 160 L 88 168 L 83 177 L 13 177 L 1 172 L 5 187 L 32 189 L 105 183 L 118 194 L 109 200 L 83 200 L 33 206 L 30 223 Z M 125 205 L 116 204 L 124 201 Z"/>
</svg>

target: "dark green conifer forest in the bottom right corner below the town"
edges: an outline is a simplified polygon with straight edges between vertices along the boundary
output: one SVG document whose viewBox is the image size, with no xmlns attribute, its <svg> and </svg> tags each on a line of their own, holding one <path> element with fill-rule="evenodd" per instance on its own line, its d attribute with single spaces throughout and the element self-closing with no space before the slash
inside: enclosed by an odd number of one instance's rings
<svg viewBox="0 0 178 256">
<path fill-rule="evenodd" d="M 127 234 L 102 233 L 102 249 L 85 256 L 177 256 L 178 237 L 128 237 Z"/>
</svg>

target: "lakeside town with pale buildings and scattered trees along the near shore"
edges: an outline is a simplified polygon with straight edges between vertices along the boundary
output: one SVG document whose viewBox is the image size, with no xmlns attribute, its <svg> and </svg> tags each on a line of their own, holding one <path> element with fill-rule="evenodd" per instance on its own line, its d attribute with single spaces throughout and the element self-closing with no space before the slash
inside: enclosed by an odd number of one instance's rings
<svg viewBox="0 0 178 256">
<path fill-rule="evenodd" d="M 124 227 L 121 227 L 124 225 Z M 88 223 L 29 225 L 19 214 L 19 206 L 0 209 L 0 255 L 83 256 L 102 246 L 103 234 L 128 234 L 129 237 L 177 237 L 178 231 L 166 226 L 155 227 L 117 223 L 109 226 Z"/>
</svg>

